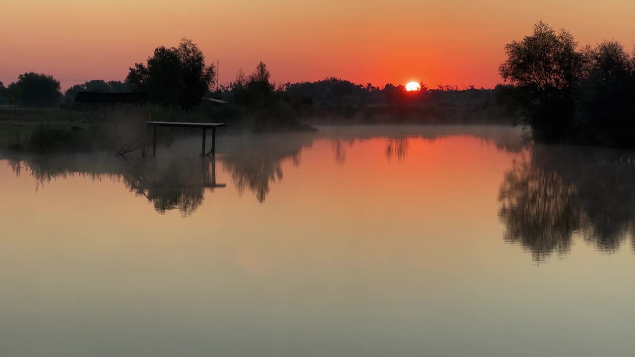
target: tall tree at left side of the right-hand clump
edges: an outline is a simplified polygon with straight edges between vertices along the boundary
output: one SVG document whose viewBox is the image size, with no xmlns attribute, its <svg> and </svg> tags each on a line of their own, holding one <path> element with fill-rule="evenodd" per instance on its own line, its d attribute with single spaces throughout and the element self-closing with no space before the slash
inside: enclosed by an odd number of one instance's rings
<svg viewBox="0 0 635 357">
<path fill-rule="evenodd" d="M 538 22 L 533 34 L 505 46 L 500 76 L 525 91 L 524 105 L 533 138 L 558 142 L 572 137 L 573 90 L 584 76 L 587 57 L 573 35 Z"/>
</svg>

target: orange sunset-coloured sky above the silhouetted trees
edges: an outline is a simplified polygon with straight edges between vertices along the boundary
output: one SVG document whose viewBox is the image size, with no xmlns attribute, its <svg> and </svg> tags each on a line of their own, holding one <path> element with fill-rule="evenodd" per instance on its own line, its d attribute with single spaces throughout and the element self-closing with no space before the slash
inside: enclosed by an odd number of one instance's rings
<svg viewBox="0 0 635 357">
<path fill-rule="evenodd" d="M 27 71 L 62 88 L 123 80 L 156 46 L 181 37 L 220 60 L 220 81 L 264 60 L 275 81 L 338 76 L 491 87 L 502 47 L 544 20 L 581 43 L 630 46 L 631 0 L 2 0 L 0 81 Z"/>
</svg>

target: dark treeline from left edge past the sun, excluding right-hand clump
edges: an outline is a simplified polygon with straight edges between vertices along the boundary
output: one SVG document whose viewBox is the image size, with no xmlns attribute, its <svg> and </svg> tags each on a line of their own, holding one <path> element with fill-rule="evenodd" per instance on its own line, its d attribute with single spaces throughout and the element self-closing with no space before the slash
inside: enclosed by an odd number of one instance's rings
<svg viewBox="0 0 635 357">
<path fill-rule="evenodd" d="M 81 110 L 79 91 L 147 93 L 156 119 L 206 121 L 222 118 L 253 131 L 305 129 L 305 123 L 509 123 L 497 104 L 496 90 L 439 84 L 420 91 L 402 85 L 356 84 L 330 77 L 321 81 L 274 83 L 264 62 L 250 74 L 240 70 L 218 86 L 217 69 L 206 65 L 196 44 L 182 39 L 177 47 L 159 46 L 145 63 L 130 67 L 124 81 L 95 79 L 62 93 L 53 76 L 29 72 L 7 88 L 0 83 L 0 104 Z M 214 90 L 216 89 L 216 90 Z M 227 100 L 217 105 L 204 97 Z"/>
</svg>

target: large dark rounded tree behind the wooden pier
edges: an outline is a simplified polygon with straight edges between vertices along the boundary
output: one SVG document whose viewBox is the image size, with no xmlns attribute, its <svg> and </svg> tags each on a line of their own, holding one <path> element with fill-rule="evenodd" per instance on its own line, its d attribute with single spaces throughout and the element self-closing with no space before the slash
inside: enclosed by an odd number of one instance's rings
<svg viewBox="0 0 635 357">
<path fill-rule="evenodd" d="M 199 104 L 216 77 L 213 65 L 205 64 L 203 52 L 189 39 L 178 48 L 156 48 L 147 64 L 130 68 L 126 83 L 145 91 L 157 104 L 188 110 Z"/>
</svg>

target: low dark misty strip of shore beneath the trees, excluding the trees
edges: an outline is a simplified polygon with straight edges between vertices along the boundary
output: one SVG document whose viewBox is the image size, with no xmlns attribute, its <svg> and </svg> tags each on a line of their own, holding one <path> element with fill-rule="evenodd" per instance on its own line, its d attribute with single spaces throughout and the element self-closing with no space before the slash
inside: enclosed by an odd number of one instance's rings
<svg viewBox="0 0 635 357">
<path fill-rule="evenodd" d="M 201 104 L 192 111 L 156 105 L 111 112 L 100 123 L 86 123 L 81 111 L 0 111 L 0 151 L 77 152 L 117 151 L 137 135 L 143 121 L 186 123 L 222 122 L 228 133 L 316 131 L 312 125 L 509 125 L 514 118 L 491 102 L 479 104 L 395 105 L 339 108 L 323 105 L 284 105 L 247 111 L 235 104 Z M 160 130 L 159 142 L 170 144 L 191 130 Z"/>
</svg>

